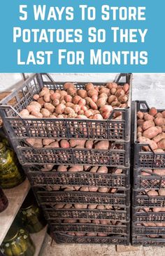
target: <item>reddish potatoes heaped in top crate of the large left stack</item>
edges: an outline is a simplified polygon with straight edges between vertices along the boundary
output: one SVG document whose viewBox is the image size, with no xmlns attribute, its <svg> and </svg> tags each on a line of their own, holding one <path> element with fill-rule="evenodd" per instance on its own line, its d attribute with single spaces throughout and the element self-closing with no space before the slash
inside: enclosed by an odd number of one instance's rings
<svg viewBox="0 0 165 256">
<path fill-rule="evenodd" d="M 79 118 L 108 119 L 113 108 L 126 108 L 129 84 L 124 86 L 109 82 L 106 86 L 85 85 L 85 89 L 76 89 L 71 82 L 64 84 L 64 90 L 56 91 L 43 87 L 34 101 L 19 114 L 24 118 Z M 121 113 L 115 118 L 120 119 Z"/>
</svg>

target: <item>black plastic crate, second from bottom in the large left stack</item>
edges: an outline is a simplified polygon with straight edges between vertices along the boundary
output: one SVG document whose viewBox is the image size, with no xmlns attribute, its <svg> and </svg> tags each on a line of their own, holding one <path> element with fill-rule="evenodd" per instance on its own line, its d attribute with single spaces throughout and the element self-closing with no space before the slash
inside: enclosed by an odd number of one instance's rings
<svg viewBox="0 0 165 256">
<path fill-rule="evenodd" d="M 48 222 L 52 232 L 96 232 L 128 235 L 129 222 L 115 225 L 86 224 L 86 223 L 57 223 L 53 220 Z"/>
</svg>

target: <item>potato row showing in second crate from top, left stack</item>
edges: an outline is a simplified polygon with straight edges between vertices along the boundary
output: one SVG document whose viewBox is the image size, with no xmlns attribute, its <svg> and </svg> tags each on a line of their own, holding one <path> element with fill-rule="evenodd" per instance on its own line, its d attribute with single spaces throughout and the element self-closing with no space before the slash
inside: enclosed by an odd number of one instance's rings
<svg viewBox="0 0 165 256">
<path fill-rule="evenodd" d="M 83 139 L 26 139 L 29 146 L 33 148 L 86 148 L 97 150 L 108 150 L 111 147 L 110 141 L 95 141 Z M 121 147 L 120 145 L 118 145 Z"/>
</svg>

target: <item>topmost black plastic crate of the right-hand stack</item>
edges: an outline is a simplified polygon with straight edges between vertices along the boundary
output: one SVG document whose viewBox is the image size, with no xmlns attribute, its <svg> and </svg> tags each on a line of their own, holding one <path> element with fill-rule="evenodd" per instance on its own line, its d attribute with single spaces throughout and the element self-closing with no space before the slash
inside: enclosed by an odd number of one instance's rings
<svg viewBox="0 0 165 256">
<path fill-rule="evenodd" d="M 137 112 L 150 110 L 146 101 L 135 102 L 134 113 L 134 169 L 165 169 L 165 153 L 154 153 L 146 143 L 139 143 L 137 139 Z M 159 112 L 164 110 L 158 110 Z M 143 146 L 150 148 L 149 152 L 143 151 Z"/>
</svg>

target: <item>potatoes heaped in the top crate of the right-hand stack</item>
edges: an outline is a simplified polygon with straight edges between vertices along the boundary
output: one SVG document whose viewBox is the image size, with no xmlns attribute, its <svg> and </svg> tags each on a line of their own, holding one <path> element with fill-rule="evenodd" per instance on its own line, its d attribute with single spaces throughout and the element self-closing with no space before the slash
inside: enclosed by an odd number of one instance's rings
<svg viewBox="0 0 165 256">
<path fill-rule="evenodd" d="M 156 108 L 150 108 L 149 113 L 138 111 L 138 141 L 147 143 L 155 153 L 165 151 L 165 110 L 158 113 Z M 143 146 L 144 151 L 150 151 L 148 146 Z"/>
</svg>

